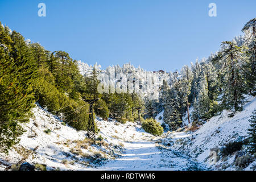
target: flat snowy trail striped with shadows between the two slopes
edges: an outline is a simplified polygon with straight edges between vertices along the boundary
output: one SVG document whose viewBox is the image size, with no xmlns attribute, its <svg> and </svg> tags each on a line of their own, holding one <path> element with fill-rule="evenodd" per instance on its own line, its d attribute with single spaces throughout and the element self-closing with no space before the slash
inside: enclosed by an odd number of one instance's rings
<svg viewBox="0 0 256 182">
<path fill-rule="evenodd" d="M 156 146 L 154 142 L 138 140 L 137 142 L 123 142 L 126 148 L 121 158 L 110 160 L 97 170 L 198 170 L 196 162 L 183 156 L 175 155 L 171 150 Z"/>
</svg>

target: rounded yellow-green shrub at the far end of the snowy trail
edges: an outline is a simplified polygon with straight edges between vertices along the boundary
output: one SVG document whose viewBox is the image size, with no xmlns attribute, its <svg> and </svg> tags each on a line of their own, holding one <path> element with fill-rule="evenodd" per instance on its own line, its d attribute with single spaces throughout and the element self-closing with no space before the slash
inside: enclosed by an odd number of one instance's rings
<svg viewBox="0 0 256 182">
<path fill-rule="evenodd" d="M 155 119 L 148 118 L 144 122 L 142 122 L 142 128 L 152 135 L 162 135 L 163 134 L 163 127 L 160 126 Z"/>
</svg>

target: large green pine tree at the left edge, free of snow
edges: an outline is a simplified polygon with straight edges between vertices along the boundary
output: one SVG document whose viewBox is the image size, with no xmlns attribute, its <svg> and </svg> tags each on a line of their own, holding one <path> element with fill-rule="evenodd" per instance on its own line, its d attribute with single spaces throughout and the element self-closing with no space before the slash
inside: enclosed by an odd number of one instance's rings
<svg viewBox="0 0 256 182">
<path fill-rule="evenodd" d="M 23 133 L 19 123 L 28 121 L 34 105 L 36 64 L 18 32 L 10 34 L 0 26 L 0 37 L 0 150 L 7 152 L 19 141 Z"/>
</svg>

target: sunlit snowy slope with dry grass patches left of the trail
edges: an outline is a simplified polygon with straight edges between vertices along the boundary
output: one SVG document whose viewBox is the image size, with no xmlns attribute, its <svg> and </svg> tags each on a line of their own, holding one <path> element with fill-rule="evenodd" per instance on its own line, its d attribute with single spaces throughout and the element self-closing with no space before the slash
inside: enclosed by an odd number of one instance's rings
<svg viewBox="0 0 256 182">
<path fill-rule="evenodd" d="M 20 162 L 46 164 L 47 169 L 50 170 L 81 170 L 95 167 L 100 162 L 121 154 L 122 147 L 117 146 L 119 140 L 112 135 L 104 135 L 106 137 L 104 142 L 89 144 L 83 142 L 86 131 L 76 131 L 70 126 L 61 125 L 61 121 L 55 115 L 38 105 L 32 109 L 32 112 L 34 117 L 30 119 L 30 123 L 23 125 L 27 131 L 20 137 L 20 142 L 10 150 L 9 155 L 0 153 L 0 170 Z M 32 127 L 34 122 L 36 126 Z M 100 119 L 96 119 L 96 122 L 101 122 L 100 126 L 105 123 Z M 105 123 L 105 126 L 107 125 L 113 127 L 114 123 L 112 125 Z M 31 127 L 32 135 L 36 135 L 34 138 L 29 138 Z M 44 131 L 47 129 L 51 130 L 51 133 L 46 134 Z M 34 152 L 36 147 L 37 150 Z M 110 151 L 112 151 L 111 155 Z"/>
</svg>

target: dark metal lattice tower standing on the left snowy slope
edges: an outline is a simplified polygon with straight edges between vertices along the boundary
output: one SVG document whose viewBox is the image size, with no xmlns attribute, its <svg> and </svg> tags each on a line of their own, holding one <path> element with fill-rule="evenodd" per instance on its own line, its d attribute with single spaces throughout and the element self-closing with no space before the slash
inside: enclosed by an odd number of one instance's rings
<svg viewBox="0 0 256 182">
<path fill-rule="evenodd" d="M 93 104 L 96 102 L 98 98 L 92 100 L 85 100 L 85 102 L 89 103 L 89 119 L 88 119 L 88 127 L 86 138 L 95 140 L 95 126 L 94 126 L 94 118 L 93 118 Z"/>
</svg>

